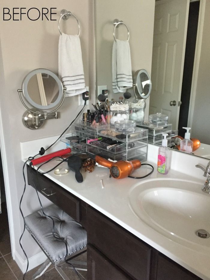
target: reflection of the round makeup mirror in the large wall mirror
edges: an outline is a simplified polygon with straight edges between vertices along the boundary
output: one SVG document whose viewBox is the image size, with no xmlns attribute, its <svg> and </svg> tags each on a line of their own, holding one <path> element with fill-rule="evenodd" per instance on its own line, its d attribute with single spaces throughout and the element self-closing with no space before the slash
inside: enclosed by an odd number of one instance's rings
<svg viewBox="0 0 210 280">
<path fill-rule="evenodd" d="M 145 69 L 137 70 L 133 79 L 134 95 L 137 99 L 147 99 L 152 90 L 149 73 Z"/>
</svg>

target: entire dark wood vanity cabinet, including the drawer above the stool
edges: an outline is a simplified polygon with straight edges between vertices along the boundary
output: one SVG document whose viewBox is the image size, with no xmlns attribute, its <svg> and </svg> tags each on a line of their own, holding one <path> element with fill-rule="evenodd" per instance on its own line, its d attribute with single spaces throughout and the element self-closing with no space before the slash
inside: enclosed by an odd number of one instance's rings
<svg viewBox="0 0 210 280">
<path fill-rule="evenodd" d="M 87 230 L 88 280 L 200 279 L 61 186 L 27 166 L 28 184 Z M 44 190 L 44 192 L 43 192 Z"/>
</svg>

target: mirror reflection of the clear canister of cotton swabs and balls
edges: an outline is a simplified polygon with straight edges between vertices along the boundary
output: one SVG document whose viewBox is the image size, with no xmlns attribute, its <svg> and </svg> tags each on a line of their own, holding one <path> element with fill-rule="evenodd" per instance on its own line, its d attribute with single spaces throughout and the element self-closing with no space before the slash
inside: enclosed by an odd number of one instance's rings
<svg viewBox="0 0 210 280">
<path fill-rule="evenodd" d="M 129 120 L 136 121 L 137 123 L 144 122 L 144 112 L 146 108 L 145 99 L 134 99 L 129 103 L 130 115 Z"/>
</svg>

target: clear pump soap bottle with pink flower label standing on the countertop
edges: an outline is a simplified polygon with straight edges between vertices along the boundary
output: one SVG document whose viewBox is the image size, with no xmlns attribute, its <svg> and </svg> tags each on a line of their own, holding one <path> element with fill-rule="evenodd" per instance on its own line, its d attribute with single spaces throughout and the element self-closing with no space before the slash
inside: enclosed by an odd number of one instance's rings
<svg viewBox="0 0 210 280">
<path fill-rule="evenodd" d="M 158 172 L 161 174 L 167 174 L 169 168 L 169 152 L 170 150 L 167 147 L 168 140 L 166 136 L 167 133 L 162 133 L 164 139 L 162 140 L 162 146 L 158 149 Z"/>
</svg>

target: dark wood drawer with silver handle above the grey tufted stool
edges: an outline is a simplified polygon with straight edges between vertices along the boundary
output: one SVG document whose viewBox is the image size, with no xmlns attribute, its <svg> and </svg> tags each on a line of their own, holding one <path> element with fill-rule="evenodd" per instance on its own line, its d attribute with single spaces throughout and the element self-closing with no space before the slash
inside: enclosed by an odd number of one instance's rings
<svg viewBox="0 0 210 280">
<path fill-rule="evenodd" d="M 77 222 L 81 222 L 81 201 L 79 198 L 72 195 L 70 192 L 67 192 L 44 175 L 37 174 L 33 168 L 31 174 L 29 166 L 27 166 L 28 184 L 34 187 L 32 177 L 37 190 L 41 192 L 41 194 L 56 204 Z"/>
</svg>

